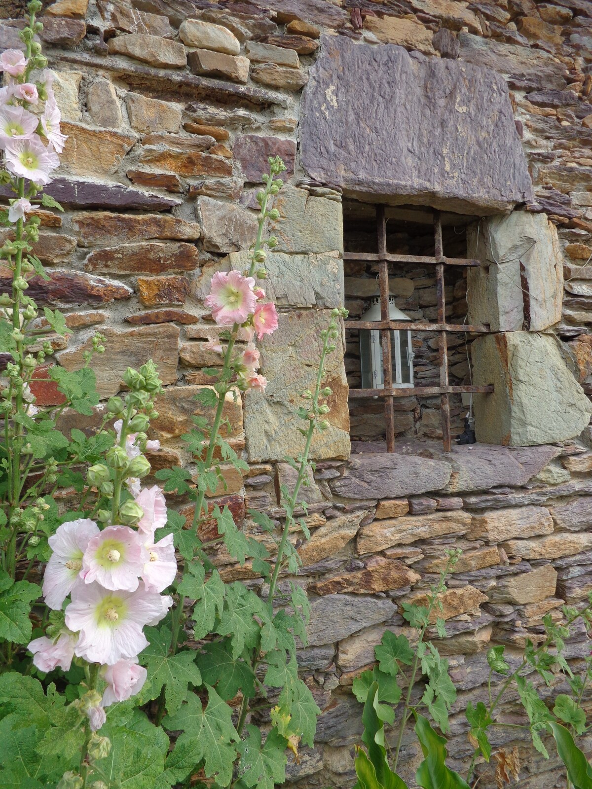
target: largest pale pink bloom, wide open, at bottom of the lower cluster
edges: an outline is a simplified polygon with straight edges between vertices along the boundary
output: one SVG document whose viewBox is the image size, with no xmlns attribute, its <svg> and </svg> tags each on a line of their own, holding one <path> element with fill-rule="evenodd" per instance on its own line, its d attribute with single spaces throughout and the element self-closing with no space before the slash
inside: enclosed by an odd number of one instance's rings
<svg viewBox="0 0 592 789">
<path fill-rule="evenodd" d="M 158 623 L 167 610 L 163 598 L 143 583 L 135 592 L 114 592 L 97 583 L 77 586 L 66 607 L 66 627 L 80 631 L 74 654 L 107 666 L 131 660 L 148 646 L 144 625 Z"/>
</svg>

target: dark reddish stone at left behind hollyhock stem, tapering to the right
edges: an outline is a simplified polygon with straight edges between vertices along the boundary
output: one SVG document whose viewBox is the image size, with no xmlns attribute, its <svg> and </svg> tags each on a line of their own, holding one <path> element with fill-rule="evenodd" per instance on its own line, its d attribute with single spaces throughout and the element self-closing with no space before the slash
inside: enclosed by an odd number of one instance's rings
<svg viewBox="0 0 592 789">
<path fill-rule="evenodd" d="M 41 277 L 28 280 L 27 295 L 47 305 L 107 304 L 128 299 L 133 290 L 123 282 L 93 277 L 77 271 L 48 271 L 49 281 Z M 0 279 L 0 293 L 12 290 L 10 279 Z"/>
</svg>

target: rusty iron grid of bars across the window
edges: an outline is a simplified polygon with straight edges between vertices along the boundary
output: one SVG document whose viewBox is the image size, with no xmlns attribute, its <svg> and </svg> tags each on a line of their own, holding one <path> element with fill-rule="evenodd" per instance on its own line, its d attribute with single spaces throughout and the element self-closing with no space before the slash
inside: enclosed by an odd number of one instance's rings
<svg viewBox="0 0 592 789">
<path fill-rule="evenodd" d="M 466 323 L 446 322 L 446 301 L 444 296 L 444 266 L 480 266 L 479 260 L 469 258 L 446 257 L 442 246 L 442 222 L 440 211 L 433 212 L 434 252 L 435 255 L 392 255 L 387 252 L 387 222 L 384 205 L 377 206 L 377 238 L 378 252 L 345 252 L 343 260 L 369 261 L 378 264 L 380 286 L 380 317 L 381 320 L 347 320 L 347 329 L 380 330 L 380 344 L 384 367 L 383 389 L 352 389 L 350 398 L 384 398 L 384 421 L 386 427 L 387 451 L 395 451 L 395 397 L 407 397 L 417 394 L 429 397 L 440 394 L 442 409 L 442 441 L 444 451 L 451 451 L 450 434 L 450 394 L 493 392 L 493 386 L 451 386 L 448 383 L 448 345 L 447 332 L 466 332 L 469 334 L 489 334 L 489 326 L 470 325 Z M 415 263 L 436 267 L 436 292 L 438 319 L 436 323 L 420 323 L 414 321 L 389 320 L 388 312 L 388 266 L 389 264 Z M 438 365 L 440 367 L 440 386 L 437 387 L 395 387 L 392 376 L 391 331 L 434 331 L 438 334 Z"/>
</svg>

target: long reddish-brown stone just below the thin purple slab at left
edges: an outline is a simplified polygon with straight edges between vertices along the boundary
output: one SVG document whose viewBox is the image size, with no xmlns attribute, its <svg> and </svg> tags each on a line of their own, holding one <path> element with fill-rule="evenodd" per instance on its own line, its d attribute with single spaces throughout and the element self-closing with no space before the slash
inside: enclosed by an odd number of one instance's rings
<svg viewBox="0 0 592 789">
<path fill-rule="evenodd" d="M 171 241 L 196 241 L 200 237 L 197 222 L 185 222 L 169 214 L 112 214 L 110 211 L 85 211 L 74 216 L 78 244 L 94 246 L 118 241 L 148 241 L 151 238 Z"/>
</svg>

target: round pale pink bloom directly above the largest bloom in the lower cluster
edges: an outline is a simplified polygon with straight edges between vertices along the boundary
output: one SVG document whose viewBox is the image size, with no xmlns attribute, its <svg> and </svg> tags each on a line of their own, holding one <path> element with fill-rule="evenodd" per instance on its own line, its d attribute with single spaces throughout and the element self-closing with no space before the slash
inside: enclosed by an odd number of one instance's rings
<svg viewBox="0 0 592 789">
<path fill-rule="evenodd" d="M 133 592 L 148 562 L 144 545 L 129 526 L 107 526 L 88 540 L 82 557 L 85 584 L 98 581 L 105 589 L 125 589 Z"/>
</svg>

